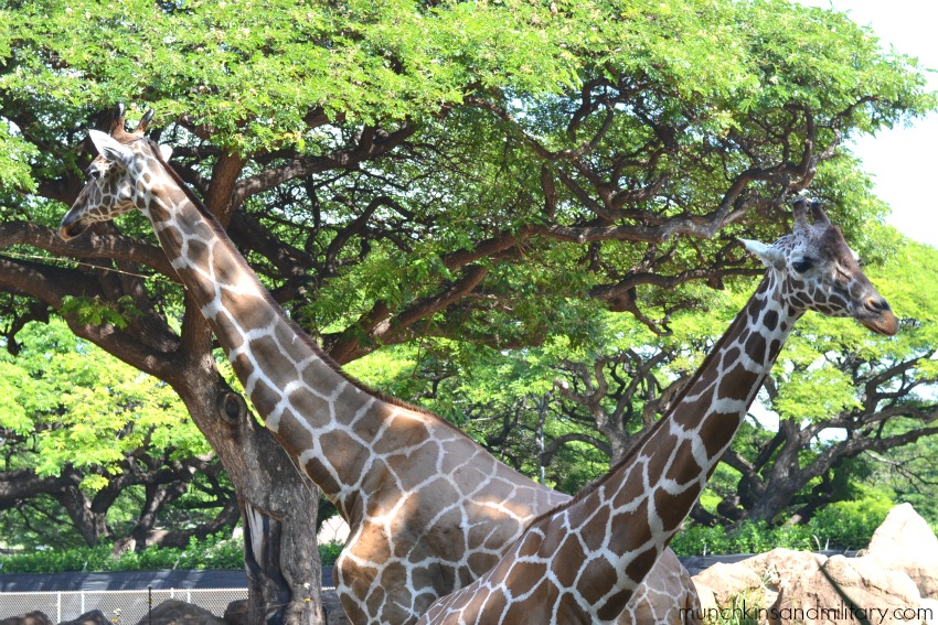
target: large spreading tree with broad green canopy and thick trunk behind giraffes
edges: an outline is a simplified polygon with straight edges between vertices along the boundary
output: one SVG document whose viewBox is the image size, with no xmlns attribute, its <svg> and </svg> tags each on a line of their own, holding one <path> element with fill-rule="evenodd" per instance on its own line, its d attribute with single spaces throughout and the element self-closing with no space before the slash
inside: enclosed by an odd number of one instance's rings
<svg viewBox="0 0 938 625">
<path fill-rule="evenodd" d="M 934 107 L 912 60 L 780 0 L 46 4 L 0 3 L 8 345 L 61 314 L 179 395 L 263 536 L 246 562 L 271 621 L 316 612 L 316 495 L 139 216 L 55 236 L 115 101 L 157 110 L 181 175 L 340 363 L 585 340 L 597 306 L 660 332 L 678 287 L 752 274 L 733 235 L 770 237 L 812 181 L 849 230 L 880 214 L 832 159 Z"/>
</svg>

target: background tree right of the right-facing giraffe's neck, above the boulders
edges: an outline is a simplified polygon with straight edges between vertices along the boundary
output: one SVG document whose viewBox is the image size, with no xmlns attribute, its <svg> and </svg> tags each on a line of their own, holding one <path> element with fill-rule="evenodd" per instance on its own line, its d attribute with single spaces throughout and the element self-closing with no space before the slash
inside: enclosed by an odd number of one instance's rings
<svg viewBox="0 0 938 625">
<path fill-rule="evenodd" d="M 871 341 L 813 317 L 798 330 L 768 389 L 778 431 L 740 438 L 724 459 L 740 474 L 724 515 L 771 522 L 788 508 L 782 520 L 804 521 L 849 495 L 838 483 L 838 471 L 856 468 L 846 461 L 938 433 L 936 316 L 926 294 L 936 260 L 934 248 L 907 243 L 871 271 L 909 315 L 897 340 Z"/>
</svg>

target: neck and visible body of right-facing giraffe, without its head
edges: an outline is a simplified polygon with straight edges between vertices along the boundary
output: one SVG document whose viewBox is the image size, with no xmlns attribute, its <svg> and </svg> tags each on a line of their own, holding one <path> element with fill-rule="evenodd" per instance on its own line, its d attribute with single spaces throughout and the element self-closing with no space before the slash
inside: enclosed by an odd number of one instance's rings
<svg viewBox="0 0 938 625">
<path fill-rule="evenodd" d="M 700 497 L 800 313 L 769 271 L 673 408 L 603 479 L 536 518 L 493 569 L 439 600 L 420 624 L 556 623 L 588 614 L 611 623 L 632 599 Z M 501 589 L 542 580 L 536 606 Z M 537 595 L 531 590 L 521 596 Z M 503 621 L 498 619 L 501 613 Z M 488 621 L 486 621 L 488 622 Z"/>
</svg>

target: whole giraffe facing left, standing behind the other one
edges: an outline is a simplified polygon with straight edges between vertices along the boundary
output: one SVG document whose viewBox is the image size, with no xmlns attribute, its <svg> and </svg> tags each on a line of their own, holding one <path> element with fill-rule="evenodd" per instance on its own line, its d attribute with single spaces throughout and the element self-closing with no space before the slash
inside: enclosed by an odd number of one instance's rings
<svg viewBox="0 0 938 625">
<path fill-rule="evenodd" d="M 439 417 L 345 376 L 273 301 L 168 164 L 171 150 L 146 138 L 151 112 L 128 132 L 122 111 L 109 134 L 90 131 L 99 155 L 60 235 L 134 209 L 151 222 L 266 427 L 348 521 L 334 578 L 353 623 L 416 622 L 569 499 Z M 690 584 L 669 550 L 622 623 L 685 623 L 679 607 L 697 605 Z"/>
</svg>

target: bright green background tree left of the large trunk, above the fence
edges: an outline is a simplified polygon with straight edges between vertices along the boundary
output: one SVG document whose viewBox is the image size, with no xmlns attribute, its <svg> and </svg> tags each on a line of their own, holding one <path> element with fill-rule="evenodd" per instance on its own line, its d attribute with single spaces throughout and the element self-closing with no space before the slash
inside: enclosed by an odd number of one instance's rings
<svg viewBox="0 0 938 625">
<path fill-rule="evenodd" d="M 169 387 L 58 320 L 20 340 L 15 358 L 0 356 L 6 546 L 185 547 L 236 522 L 221 465 Z M 180 527 L 167 530 L 160 517 L 174 503 L 188 509 L 177 507 Z M 120 516 L 126 529 L 115 527 Z"/>
</svg>

